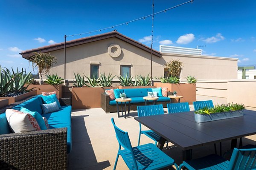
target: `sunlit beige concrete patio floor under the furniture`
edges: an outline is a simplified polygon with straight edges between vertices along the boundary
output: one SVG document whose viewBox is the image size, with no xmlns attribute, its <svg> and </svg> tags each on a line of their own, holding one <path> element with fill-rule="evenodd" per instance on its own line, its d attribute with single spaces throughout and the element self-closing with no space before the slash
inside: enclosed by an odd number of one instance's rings
<svg viewBox="0 0 256 170">
<path fill-rule="evenodd" d="M 206 100 L 205 96 L 197 96 L 198 100 Z M 225 99 L 213 99 L 214 104 L 226 103 Z M 190 105 L 191 110 L 193 106 Z M 167 108 L 164 109 L 167 113 Z M 101 108 L 73 110 L 72 112 L 72 139 L 73 148 L 69 155 L 69 170 L 112 170 L 118 150 L 111 118 L 116 125 L 124 131 L 128 131 L 132 146 L 137 146 L 139 123 L 134 120 L 137 111 L 131 111 L 126 119 L 118 118 L 117 113 L 106 114 Z M 143 130 L 146 130 L 143 127 Z M 154 143 L 146 136 L 141 137 L 140 144 Z M 238 142 L 239 143 L 239 142 Z M 243 144 L 256 144 L 256 135 L 243 139 Z M 219 145 L 217 144 L 217 149 Z M 222 153 L 230 148 L 230 141 L 222 142 Z M 169 143 L 163 152 L 175 159 L 179 165 L 182 162 L 182 150 Z M 214 153 L 214 146 L 210 144 L 193 150 L 193 159 Z M 122 157 L 119 157 L 117 170 L 128 169 Z"/>
</svg>

